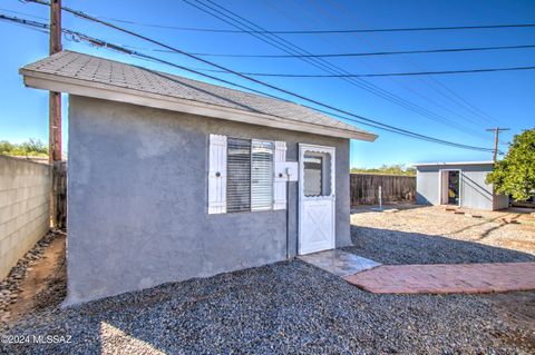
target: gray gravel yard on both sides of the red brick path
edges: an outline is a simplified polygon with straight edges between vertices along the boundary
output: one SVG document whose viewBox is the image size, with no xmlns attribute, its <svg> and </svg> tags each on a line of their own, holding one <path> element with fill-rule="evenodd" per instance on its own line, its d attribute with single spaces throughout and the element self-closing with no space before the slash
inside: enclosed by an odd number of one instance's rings
<svg viewBox="0 0 535 355">
<path fill-rule="evenodd" d="M 441 221 L 432 208 L 354 214 L 357 246 L 349 250 L 385 264 L 534 260 L 525 252 L 474 243 L 477 234 L 467 229 L 435 237 L 407 221 L 426 214 L 437 234 L 439 224 L 455 231 L 483 221 L 454 215 Z M 495 233 L 488 240 L 504 241 Z M 67 309 L 50 305 L 0 331 L 0 353 L 533 354 L 534 325 L 533 292 L 374 295 L 292 260 Z M 33 343 L 47 335 L 64 342 Z"/>
</svg>

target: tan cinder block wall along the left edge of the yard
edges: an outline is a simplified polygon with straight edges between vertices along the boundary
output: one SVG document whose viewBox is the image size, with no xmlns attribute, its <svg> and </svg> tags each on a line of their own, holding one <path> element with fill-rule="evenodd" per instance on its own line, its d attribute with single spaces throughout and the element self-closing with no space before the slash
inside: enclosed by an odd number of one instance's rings
<svg viewBox="0 0 535 355">
<path fill-rule="evenodd" d="M 51 168 L 0 156 L 0 280 L 50 227 Z"/>
</svg>

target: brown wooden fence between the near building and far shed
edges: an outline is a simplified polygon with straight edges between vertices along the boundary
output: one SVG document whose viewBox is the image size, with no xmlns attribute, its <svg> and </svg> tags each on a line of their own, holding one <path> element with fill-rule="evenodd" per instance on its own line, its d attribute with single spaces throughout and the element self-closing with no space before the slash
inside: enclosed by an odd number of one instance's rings
<svg viewBox="0 0 535 355">
<path fill-rule="evenodd" d="M 415 200 L 415 176 L 351 174 L 351 206 L 378 205 L 379 186 L 382 190 L 383 204 Z"/>
</svg>

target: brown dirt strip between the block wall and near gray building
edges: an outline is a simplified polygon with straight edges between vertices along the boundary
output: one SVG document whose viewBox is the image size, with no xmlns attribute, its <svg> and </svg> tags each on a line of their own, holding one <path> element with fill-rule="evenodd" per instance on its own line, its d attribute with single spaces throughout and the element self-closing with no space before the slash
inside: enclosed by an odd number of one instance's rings
<svg viewBox="0 0 535 355">
<path fill-rule="evenodd" d="M 0 318 L 13 323 L 26 314 L 58 306 L 66 295 L 66 235 L 47 235 L 45 243 L 36 245 L 8 276 L 10 303 L 0 310 Z M 38 249 L 38 252 L 36 252 Z"/>
</svg>

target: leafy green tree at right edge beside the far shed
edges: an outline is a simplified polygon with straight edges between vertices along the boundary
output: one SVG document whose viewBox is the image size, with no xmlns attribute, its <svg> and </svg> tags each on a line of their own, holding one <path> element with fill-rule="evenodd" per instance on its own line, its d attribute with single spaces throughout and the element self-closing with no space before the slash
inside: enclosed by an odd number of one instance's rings
<svg viewBox="0 0 535 355">
<path fill-rule="evenodd" d="M 515 135 L 503 160 L 495 164 L 487 175 L 487 184 L 494 184 L 498 194 L 526 200 L 535 193 L 535 129 Z"/>
</svg>

